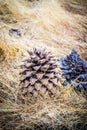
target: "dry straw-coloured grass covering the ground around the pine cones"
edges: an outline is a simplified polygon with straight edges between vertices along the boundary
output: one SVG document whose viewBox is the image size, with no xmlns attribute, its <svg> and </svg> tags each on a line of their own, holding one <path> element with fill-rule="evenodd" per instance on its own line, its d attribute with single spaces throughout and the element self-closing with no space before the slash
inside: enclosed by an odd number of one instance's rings
<svg viewBox="0 0 87 130">
<path fill-rule="evenodd" d="M 75 48 L 87 60 L 87 0 L 0 0 L 0 130 L 86 130 L 87 101 L 72 86 L 54 100 L 17 102 L 19 65 L 33 47 L 56 58 Z"/>
</svg>

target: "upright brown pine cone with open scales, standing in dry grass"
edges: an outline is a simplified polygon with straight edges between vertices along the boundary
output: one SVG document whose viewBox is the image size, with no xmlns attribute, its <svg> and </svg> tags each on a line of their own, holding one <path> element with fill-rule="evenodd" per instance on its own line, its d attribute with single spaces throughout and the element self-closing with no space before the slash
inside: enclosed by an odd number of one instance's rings
<svg viewBox="0 0 87 130">
<path fill-rule="evenodd" d="M 30 57 L 21 65 L 19 93 L 24 97 L 55 95 L 59 91 L 56 60 L 43 49 L 34 49 L 28 54 Z"/>
</svg>

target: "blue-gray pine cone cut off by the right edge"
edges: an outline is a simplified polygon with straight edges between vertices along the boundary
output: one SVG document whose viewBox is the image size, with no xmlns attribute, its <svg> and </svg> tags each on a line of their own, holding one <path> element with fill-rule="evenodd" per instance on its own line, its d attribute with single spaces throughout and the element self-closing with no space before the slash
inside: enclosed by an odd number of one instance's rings
<svg viewBox="0 0 87 130">
<path fill-rule="evenodd" d="M 73 83 L 77 88 L 87 90 L 87 61 L 83 60 L 76 50 L 59 60 L 59 66 L 62 70 L 62 76 L 66 79 L 63 83 Z M 77 80 L 76 80 L 77 79 Z M 76 80 L 76 82 L 72 82 Z"/>
</svg>

